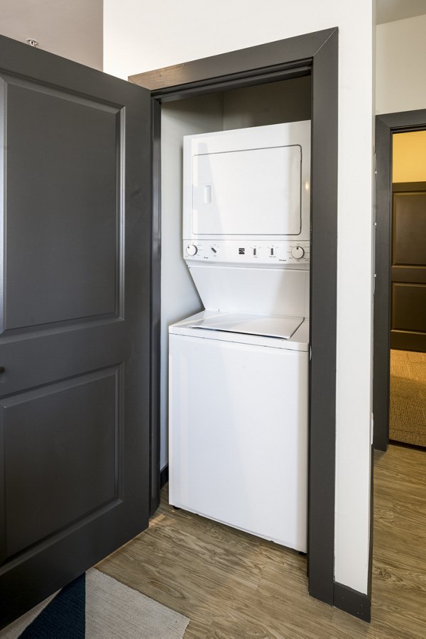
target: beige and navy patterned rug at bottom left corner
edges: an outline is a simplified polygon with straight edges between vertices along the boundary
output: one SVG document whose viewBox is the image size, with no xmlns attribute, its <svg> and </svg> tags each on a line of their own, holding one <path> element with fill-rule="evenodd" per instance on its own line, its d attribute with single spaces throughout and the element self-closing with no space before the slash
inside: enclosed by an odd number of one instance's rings
<svg viewBox="0 0 426 639">
<path fill-rule="evenodd" d="M 92 568 L 0 631 L 0 638 L 181 639 L 189 621 Z"/>
</svg>

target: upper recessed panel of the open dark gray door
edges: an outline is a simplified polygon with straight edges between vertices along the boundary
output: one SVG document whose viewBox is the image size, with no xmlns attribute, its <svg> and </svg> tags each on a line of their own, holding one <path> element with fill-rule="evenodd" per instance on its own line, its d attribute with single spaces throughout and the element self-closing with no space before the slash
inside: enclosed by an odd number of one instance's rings
<svg viewBox="0 0 426 639">
<path fill-rule="evenodd" d="M 3 258 L 5 332 L 120 316 L 122 118 L 44 84 L 4 86 L 1 219 L 20 247 Z"/>
</svg>

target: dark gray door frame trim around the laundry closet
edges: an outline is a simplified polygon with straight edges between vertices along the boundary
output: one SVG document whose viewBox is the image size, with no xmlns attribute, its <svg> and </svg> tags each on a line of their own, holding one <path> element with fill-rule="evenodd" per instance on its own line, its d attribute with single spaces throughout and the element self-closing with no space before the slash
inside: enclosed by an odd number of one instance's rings
<svg viewBox="0 0 426 639">
<path fill-rule="evenodd" d="M 334 602 L 334 478 L 337 321 L 337 28 L 215 55 L 129 78 L 160 103 L 195 94 L 312 74 L 312 276 L 308 574 L 312 596 Z M 154 109 L 155 136 L 159 109 Z M 155 141 L 154 141 L 155 148 Z M 158 172 L 155 178 L 158 190 Z M 154 197 L 159 202 L 159 196 Z M 154 261 L 159 260 L 159 207 Z M 153 325 L 158 324 L 160 266 L 153 268 Z M 327 300 L 327 304 L 324 304 Z M 157 352 L 158 345 L 153 342 Z M 153 381 L 159 388 L 158 380 Z M 158 388 L 153 388 L 154 394 Z M 154 395 L 156 396 L 156 395 Z M 153 405 L 155 405 L 155 401 Z M 155 412 L 153 413 L 153 415 Z M 158 427 L 153 423 L 153 433 Z M 157 446 L 158 449 L 158 446 Z M 153 464 L 154 466 L 154 464 Z M 153 494 L 153 509 L 158 494 Z M 365 607 L 365 602 L 364 607 Z"/>
</svg>

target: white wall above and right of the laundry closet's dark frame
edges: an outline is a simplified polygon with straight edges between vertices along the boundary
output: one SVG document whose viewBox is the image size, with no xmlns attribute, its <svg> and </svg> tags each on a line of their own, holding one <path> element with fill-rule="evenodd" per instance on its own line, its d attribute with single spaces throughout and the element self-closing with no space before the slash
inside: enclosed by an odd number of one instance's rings
<svg viewBox="0 0 426 639">
<path fill-rule="evenodd" d="M 339 27 L 335 578 L 361 592 L 370 508 L 372 5 L 104 0 L 104 70 L 119 77 Z"/>
</svg>

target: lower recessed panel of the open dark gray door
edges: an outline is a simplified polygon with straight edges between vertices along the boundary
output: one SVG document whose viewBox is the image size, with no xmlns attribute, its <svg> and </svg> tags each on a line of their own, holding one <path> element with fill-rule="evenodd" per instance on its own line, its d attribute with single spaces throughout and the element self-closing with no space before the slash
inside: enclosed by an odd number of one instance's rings
<svg viewBox="0 0 426 639">
<path fill-rule="evenodd" d="M 57 536 L 119 499 L 123 492 L 119 481 L 120 368 L 84 373 L 0 400 L 0 437 L 6 462 L 2 559 Z M 96 412 L 91 409 L 92 402 Z M 65 416 L 60 418 L 65 407 Z M 41 448 L 38 442 L 46 437 L 49 445 Z M 91 454 L 99 461 L 96 471 Z M 60 457 L 59 467 L 50 465 L 53 456 Z M 21 495 L 19 503 L 14 503 L 16 494 Z M 40 499 L 41 495 L 45 499 Z M 63 501 L 67 512 L 60 521 L 55 513 Z M 8 513 L 7 507 L 12 505 Z"/>
</svg>

